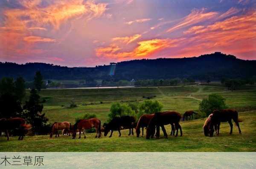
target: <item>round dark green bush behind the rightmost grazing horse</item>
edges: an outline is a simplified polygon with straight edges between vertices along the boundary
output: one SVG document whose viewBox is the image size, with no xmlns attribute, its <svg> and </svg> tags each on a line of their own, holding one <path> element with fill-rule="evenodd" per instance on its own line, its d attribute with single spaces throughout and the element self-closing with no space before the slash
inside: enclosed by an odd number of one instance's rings
<svg viewBox="0 0 256 169">
<path fill-rule="evenodd" d="M 199 104 L 199 110 L 204 112 L 207 116 L 214 110 L 226 109 L 225 98 L 218 94 L 211 94 L 208 99 L 203 99 Z"/>
</svg>

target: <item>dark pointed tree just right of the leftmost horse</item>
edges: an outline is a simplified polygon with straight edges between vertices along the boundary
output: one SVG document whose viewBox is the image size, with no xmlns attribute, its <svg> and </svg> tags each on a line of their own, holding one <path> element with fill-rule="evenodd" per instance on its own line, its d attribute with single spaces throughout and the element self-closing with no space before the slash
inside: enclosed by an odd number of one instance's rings
<svg viewBox="0 0 256 169">
<path fill-rule="evenodd" d="M 35 134 L 41 134 L 47 125 L 47 117 L 42 113 L 44 106 L 40 104 L 40 96 L 35 89 L 30 91 L 29 101 L 23 106 L 23 117 L 32 125 Z"/>
</svg>

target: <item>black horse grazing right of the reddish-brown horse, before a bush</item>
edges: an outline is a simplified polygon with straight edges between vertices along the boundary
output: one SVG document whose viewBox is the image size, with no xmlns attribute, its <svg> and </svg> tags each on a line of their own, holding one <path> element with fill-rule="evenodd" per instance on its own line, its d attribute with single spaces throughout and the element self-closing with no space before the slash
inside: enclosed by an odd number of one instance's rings
<svg viewBox="0 0 256 169">
<path fill-rule="evenodd" d="M 133 124 L 135 123 L 135 118 L 133 116 L 121 116 L 121 117 L 114 117 L 109 123 L 104 123 L 104 136 L 108 135 L 108 132 L 111 131 L 109 137 L 112 137 L 113 131 L 117 130 L 119 132 L 119 137 L 121 136 L 120 129 L 121 127 L 125 129 L 129 129 L 129 135 L 133 135 Z"/>
</svg>

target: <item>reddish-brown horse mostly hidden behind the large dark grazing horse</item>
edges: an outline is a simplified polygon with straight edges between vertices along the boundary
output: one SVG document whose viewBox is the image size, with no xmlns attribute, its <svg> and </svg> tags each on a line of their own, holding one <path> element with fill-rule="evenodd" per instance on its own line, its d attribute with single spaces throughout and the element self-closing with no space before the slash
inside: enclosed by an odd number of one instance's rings
<svg viewBox="0 0 256 169">
<path fill-rule="evenodd" d="M 149 114 L 149 115 L 142 115 L 140 116 L 140 119 L 137 123 L 137 126 L 136 126 L 136 134 L 137 134 L 137 137 L 140 137 L 140 128 L 142 129 L 142 136 L 144 134 L 144 128 L 147 128 L 148 127 L 148 123 L 149 121 L 151 120 L 151 118 L 154 116 L 154 114 Z M 172 126 L 172 131 L 171 131 L 171 135 L 174 135 L 175 134 L 175 126 L 174 124 L 172 123 L 171 124 Z M 151 138 L 154 137 L 154 134 L 151 135 Z"/>
</svg>

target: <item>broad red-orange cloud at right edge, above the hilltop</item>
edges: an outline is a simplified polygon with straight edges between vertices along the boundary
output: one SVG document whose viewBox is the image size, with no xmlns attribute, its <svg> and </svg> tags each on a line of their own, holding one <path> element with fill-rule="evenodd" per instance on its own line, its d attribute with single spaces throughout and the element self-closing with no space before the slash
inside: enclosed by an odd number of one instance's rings
<svg viewBox="0 0 256 169">
<path fill-rule="evenodd" d="M 250 52 L 256 49 L 256 11 L 216 22 L 209 26 L 194 26 L 184 32 L 187 45 L 184 50 L 192 51 L 222 49 L 228 52 Z M 200 49 L 198 49 L 200 47 Z"/>
</svg>

